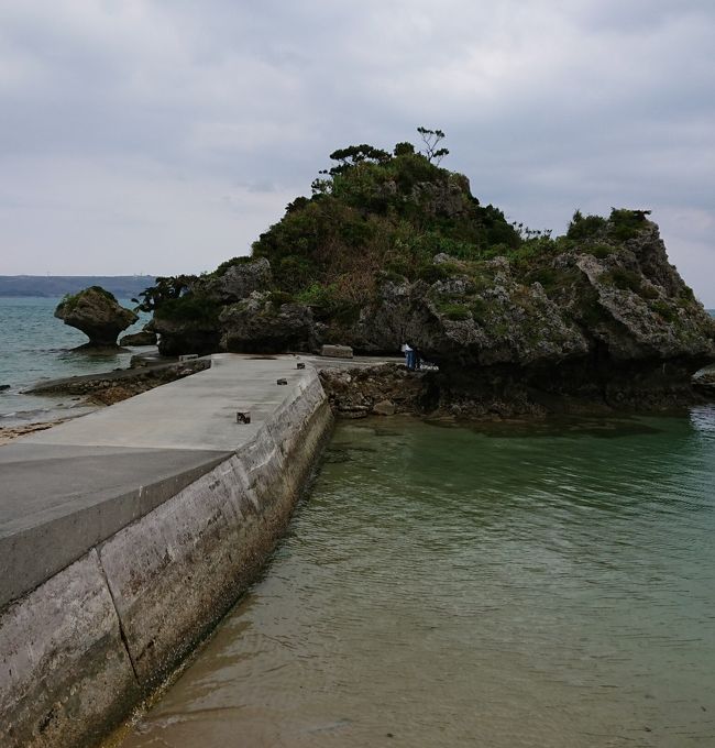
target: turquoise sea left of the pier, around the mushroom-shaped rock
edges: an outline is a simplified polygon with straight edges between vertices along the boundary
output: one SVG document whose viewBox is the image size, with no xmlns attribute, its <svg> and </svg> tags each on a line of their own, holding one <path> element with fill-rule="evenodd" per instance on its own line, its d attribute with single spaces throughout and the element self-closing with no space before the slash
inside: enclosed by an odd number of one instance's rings
<svg viewBox="0 0 715 748">
<path fill-rule="evenodd" d="M 41 380 L 129 365 L 131 352 L 99 355 L 73 351 L 88 339 L 53 317 L 58 302 L 58 298 L 0 298 L 0 385 L 11 387 L 0 392 L 0 426 L 48 420 L 72 407 L 73 402 L 66 398 L 21 394 Z M 129 299 L 120 299 L 120 304 L 134 306 Z M 128 332 L 139 331 L 146 321 L 143 315 Z"/>
</svg>

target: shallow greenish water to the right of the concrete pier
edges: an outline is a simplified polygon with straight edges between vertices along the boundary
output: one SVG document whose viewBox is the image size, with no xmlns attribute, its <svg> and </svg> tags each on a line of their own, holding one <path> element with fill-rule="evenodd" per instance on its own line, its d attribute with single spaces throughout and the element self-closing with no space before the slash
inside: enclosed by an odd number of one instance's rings
<svg viewBox="0 0 715 748">
<path fill-rule="evenodd" d="M 341 425 L 265 578 L 121 744 L 715 745 L 715 409 Z"/>
</svg>

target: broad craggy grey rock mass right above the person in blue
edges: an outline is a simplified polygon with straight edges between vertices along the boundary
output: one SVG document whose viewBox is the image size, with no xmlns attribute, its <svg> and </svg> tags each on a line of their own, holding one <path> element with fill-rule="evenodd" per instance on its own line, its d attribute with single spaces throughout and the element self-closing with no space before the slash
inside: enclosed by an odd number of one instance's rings
<svg viewBox="0 0 715 748">
<path fill-rule="evenodd" d="M 578 326 L 561 317 L 540 284 L 517 283 L 506 258 L 483 263 L 477 278 L 459 265 L 452 272 L 431 285 L 383 285 L 351 344 L 384 352 L 408 341 L 436 363 L 472 367 L 557 363 L 586 352 Z"/>
</svg>

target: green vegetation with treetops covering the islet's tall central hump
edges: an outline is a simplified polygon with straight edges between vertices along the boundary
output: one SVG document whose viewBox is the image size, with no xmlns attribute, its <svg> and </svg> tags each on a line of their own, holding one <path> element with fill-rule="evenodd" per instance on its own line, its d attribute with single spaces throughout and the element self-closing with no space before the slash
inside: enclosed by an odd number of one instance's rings
<svg viewBox="0 0 715 748">
<path fill-rule="evenodd" d="M 254 257 L 271 261 L 276 288 L 319 310 L 344 310 L 388 279 L 448 277 L 454 266 L 435 265 L 436 254 L 480 261 L 521 248 L 499 209 L 481 206 L 465 177 L 440 167 L 444 133 L 418 132 L 422 153 L 398 143 L 392 153 L 361 144 L 330 154 L 337 163 L 312 196 L 294 200 L 253 244 Z"/>
</svg>

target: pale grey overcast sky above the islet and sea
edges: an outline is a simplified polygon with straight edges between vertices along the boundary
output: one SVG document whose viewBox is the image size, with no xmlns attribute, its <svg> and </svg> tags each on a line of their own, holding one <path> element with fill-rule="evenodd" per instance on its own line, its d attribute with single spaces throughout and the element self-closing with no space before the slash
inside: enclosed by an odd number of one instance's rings
<svg viewBox="0 0 715 748">
<path fill-rule="evenodd" d="M 1 0 L 0 274 L 198 273 L 351 143 L 482 202 L 651 208 L 715 307 L 712 0 Z"/>
</svg>

